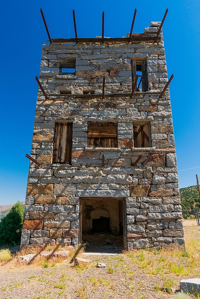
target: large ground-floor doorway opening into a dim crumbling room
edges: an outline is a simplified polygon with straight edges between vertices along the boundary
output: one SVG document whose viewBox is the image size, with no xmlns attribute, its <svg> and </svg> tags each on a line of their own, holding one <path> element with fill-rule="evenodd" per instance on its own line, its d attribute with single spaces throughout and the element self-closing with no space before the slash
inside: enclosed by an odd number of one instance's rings
<svg viewBox="0 0 200 299">
<path fill-rule="evenodd" d="M 127 249 L 126 202 L 123 198 L 80 198 L 79 243 L 85 251 L 121 253 Z"/>
</svg>

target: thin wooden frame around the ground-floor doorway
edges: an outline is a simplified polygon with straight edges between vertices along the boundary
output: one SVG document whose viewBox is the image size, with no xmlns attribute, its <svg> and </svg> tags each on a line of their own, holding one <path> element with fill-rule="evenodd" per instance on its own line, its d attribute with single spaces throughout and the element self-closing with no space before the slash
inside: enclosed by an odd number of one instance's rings
<svg viewBox="0 0 200 299">
<path fill-rule="evenodd" d="M 123 243 L 124 250 L 127 250 L 127 215 L 126 215 L 126 198 L 124 197 L 80 197 L 79 198 L 79 244 L 82 243 L 82 214 L 83 214 L 83 200 L 122 200 L 123 202 Z"/>
</svg>

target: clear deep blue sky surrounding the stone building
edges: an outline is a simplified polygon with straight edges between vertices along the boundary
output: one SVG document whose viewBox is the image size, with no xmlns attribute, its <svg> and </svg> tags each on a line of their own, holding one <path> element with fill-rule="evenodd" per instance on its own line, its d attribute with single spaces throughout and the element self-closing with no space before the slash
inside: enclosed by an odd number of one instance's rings
<svg viewBox="0 0 200 299">
<path fill-rule="evenodd" d="M 74 4 L 72 3 L 74 2 Z M 2 7 L 3 6 L 3 7 Z M 163 25 L 180 187 L 196 184 L 200 176 L 200 1 L 3 1 L 1 6 L 1 195 L 0 205 L 25 199 L 42 44 L 47 34 L 42 7 L 52 38 L 74 37 L 72 9 L 79 37 L 126 36 L 137 8 L 133 32 L 151 21 Z M 185 171 L 181 171 L 185 170 Z"/>
</svg>

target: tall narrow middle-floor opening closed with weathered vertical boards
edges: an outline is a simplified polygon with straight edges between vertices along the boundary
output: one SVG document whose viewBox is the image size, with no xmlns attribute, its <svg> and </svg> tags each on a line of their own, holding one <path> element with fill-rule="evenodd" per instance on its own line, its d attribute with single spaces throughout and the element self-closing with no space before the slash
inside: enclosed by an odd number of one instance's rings
<svg viewBox="0 0 200 299">
<path fill-rule="evenodd" d="M 72 123 L 55 123 L 53 163 L 69 163 L 72 160 Z"/>
</svg>

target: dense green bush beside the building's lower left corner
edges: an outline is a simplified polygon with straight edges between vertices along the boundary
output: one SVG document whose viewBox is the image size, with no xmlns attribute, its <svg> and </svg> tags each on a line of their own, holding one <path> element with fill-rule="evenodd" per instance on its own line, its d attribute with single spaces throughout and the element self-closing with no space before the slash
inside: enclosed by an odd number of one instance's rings
<svg viewBox="0 0 200 299">
<path fill-rule="evenodd" d="M 19 201 L 0 222 L 0 244 L 18 244 L 22 233 L 24 205 Z"/>
</svg>

